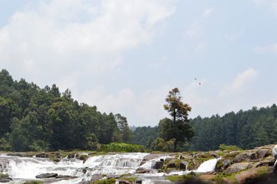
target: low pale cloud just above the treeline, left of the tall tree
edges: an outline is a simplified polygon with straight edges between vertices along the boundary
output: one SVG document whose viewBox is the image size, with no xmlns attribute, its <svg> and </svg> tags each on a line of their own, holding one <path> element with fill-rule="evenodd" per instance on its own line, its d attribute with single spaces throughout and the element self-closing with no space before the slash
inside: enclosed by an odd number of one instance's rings
<svg viewBox="0 0 277 184">
<path fill-rule="evenodd" d="M 100 86 L 85 91 L 82 100 L 89 104 L 97 104 L 100 111 L 122 113 L 127 117 L 130 125 L 157 125 L 161 118 L 167 116 L 163 110 L 166 95 L 172 89 L 163 86 L 159 89 L 148 89 L 142 93 L 135 93 L 132 89 L 121 89 L 118 93 L 109 93 Z"/>
</svg>

